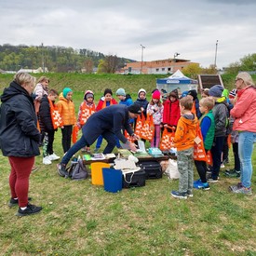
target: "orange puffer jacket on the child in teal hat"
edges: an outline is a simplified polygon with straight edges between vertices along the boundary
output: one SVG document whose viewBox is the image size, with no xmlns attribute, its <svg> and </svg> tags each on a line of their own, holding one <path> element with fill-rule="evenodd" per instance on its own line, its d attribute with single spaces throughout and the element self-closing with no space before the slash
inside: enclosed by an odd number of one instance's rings
<svg viewBox="0 0 256 256">
<path fill-rule="evenodd" d="M 75 123 L 74 102 L 68 101 L 66 98 L 64 98 L 62 92 L 59 99 L 60 101 L 57 102 L 57 106 L 63 121 L 63 125 L 73 126 Z"/>
</svg>

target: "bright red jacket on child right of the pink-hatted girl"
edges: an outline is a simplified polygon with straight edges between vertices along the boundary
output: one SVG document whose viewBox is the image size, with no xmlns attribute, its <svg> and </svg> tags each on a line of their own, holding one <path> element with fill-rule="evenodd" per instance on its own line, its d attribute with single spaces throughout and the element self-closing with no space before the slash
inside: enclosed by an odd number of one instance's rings
<svg viewBox="0 0 256 256">
<path fill-rule="evenodd" d="M 177 127 L 178 121 L 181 117 L 180 102 L 176 101 L 165 101 L 164 102 L 164 114 L 163 123 L 168 124 L 170 127 Z"/>
</svg>

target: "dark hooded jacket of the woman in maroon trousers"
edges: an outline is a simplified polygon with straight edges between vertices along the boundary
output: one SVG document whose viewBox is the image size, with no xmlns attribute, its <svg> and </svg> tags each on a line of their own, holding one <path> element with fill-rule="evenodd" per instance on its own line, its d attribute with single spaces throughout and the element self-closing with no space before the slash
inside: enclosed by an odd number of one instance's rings
<svg viewBox="0 0 256 256">
<path fill-rule="evenodd" d="M 11 82 L 1 96 L 0 146 L 5 156 L 40 155 L 40 133 L 34 101 L 16 82 Z"/>
</svg>

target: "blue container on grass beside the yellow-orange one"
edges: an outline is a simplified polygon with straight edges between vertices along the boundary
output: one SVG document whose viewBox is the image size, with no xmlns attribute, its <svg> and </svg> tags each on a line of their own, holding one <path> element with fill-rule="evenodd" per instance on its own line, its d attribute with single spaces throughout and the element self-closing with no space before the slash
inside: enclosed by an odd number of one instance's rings
<svg viewBox="0 0 256 256">
<path fill-rule="evenodd" d="M 123 174 L 120 169 L 102 168 L 104 190 L 116 193 L 122 190 Z"/>
</svg>

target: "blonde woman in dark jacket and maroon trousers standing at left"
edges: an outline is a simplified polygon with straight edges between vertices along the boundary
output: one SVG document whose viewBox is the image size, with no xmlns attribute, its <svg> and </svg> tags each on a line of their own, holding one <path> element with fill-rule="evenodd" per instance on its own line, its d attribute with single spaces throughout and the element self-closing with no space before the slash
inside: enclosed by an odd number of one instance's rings
<svg viewBox="0 0 256 256">
<path fill-rule="evenodd" d="M 1 96 L 0 147 L 11 167 L 9 206 L 19 205 L 18 216 L 34 214 L 42 209 L 31 205 L 28 198 L 34 156 L 40 155 L 40 134 L 31 97 L 34 83 L 34 76 L 18 73 Z"/>
</svg>

